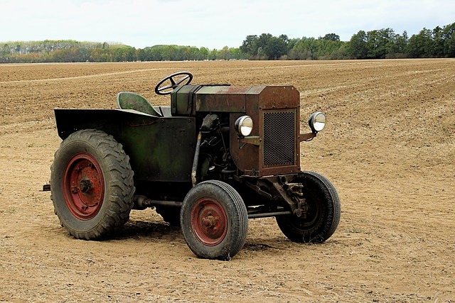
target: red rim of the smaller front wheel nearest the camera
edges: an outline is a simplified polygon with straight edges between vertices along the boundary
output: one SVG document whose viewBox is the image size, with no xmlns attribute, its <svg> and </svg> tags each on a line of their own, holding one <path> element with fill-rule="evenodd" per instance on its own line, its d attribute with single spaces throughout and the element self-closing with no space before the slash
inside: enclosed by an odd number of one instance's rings
<svg viewBox="0 0 455 303">
<path fill-rule="evenodd" d="M 225 209 L 213 199 L 200 199 L 191 211 L 191 228 L 203 244 L 219 244 L 225 238 L 228 228 Z"/>
</svg>

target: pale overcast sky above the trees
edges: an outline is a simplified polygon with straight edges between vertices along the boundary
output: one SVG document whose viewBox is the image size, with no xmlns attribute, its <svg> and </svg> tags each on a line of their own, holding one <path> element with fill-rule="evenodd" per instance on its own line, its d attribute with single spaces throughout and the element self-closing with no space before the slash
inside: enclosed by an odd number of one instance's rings
<svg viewBox="0 0 455 303">
<path fill-rule="evenodd" d="M 302 38 L 455 22 L 454 0 L 0 0 L 0 42 L 78 40 L 135 48 L 237 48 L 247 35 Z"/>
</svg>

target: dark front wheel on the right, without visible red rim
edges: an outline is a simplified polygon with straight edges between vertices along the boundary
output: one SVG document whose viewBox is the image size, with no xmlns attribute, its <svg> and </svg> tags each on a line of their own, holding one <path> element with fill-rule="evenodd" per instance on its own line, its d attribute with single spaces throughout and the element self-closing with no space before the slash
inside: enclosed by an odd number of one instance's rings
<svg viewBox="0 0 455 303">
<path fill-rule="evenodd" d="M 335 187 L 316 172 L 302 172 L 292 182 L 301 183 L 307 210 L 304 216 L 277 216 L 279 228 L 289 240 L 322 243 L 335 232 L 341 216 L 341 204 Z"/>
</svg>

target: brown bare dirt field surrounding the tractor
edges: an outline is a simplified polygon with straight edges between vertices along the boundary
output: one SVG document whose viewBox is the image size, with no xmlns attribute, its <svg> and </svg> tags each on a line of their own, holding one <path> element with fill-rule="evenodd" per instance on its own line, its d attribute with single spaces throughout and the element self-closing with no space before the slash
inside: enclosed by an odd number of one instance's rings
<svg viewBox="0 0 455 303">
<path fill-rule="evenodd" d="M 107 241 L 81 241 L 53 213 L 54 108 L 115 107 L 117 92 L 168 105 L 154 85 L 291 84 L 302 168 L 328 177 L 341 223 L 326 243 L 288 241 L 252 219 L 230 262 L 200 260 L 154 210 Z M 455 60 L 0 65 L 0 302 L 455 302 Z"/>
</svg>

